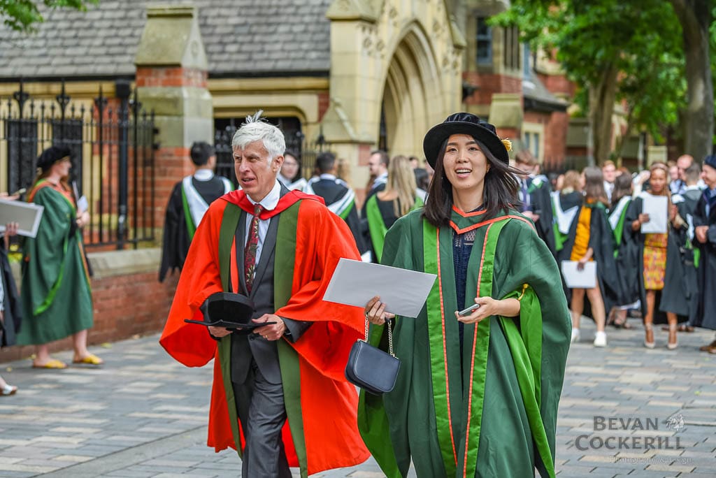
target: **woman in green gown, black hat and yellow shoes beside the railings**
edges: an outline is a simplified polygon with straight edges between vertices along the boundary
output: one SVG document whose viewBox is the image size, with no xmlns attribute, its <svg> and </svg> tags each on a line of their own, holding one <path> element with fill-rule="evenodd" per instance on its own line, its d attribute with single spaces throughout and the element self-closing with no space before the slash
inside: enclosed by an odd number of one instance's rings
<svg viewBox="0 0 716 478">
<path fill-rule="evenodd" d="M 37 158 L 38 174 L 27 195 L 44 211 L 37 235 L 26 238 L 22 258 L 20 297 L 23 323 L 18 345 L 35 345 L 32 366 L 64 369 L 67 364 L 49 356 L 48 343 L 72 336 L 73 363 L 101 365 L 102 359 L 87 350 L 92 327 L 92 292 L 84 255 L 81 228 L 89 213 L 77 210 L 67 184 L 72 163 L 67 147 L 52 146 Z"/>
</svg>

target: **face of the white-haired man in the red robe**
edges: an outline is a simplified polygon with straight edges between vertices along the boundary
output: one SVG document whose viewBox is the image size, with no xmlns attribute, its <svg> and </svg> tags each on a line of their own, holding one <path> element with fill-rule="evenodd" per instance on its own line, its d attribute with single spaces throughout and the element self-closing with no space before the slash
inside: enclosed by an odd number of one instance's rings
<svg viewBox="0 0 716 478">
<path fill-rule="evenodd" d="M 276 175 L 283 164 L 284 157 L 276 156 L 271 159 L 261 140 L 248 143 L 243 150 L 238 147 L 233 149 L 236 179 L 246 194 L 256 202 L 266 197 L 274 188 Z"/>
</svg>

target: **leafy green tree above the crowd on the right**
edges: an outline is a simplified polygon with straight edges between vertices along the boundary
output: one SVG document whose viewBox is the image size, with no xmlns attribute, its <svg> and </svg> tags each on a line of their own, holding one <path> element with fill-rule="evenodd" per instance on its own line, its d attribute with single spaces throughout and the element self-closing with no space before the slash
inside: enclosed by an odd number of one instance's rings
<svg viewBox="0 0 716 478">
<path fill-rule="evenodd" d="M 627 107 L 629 132 L 656 137 L 686 107 L 682 30 L 668 1 L 513 0 L 493 21 L 555 52 L 583 90 L 597 161 L 619 155 L 619 144 L 611 149 L 615 103 Z"/>
</svg>

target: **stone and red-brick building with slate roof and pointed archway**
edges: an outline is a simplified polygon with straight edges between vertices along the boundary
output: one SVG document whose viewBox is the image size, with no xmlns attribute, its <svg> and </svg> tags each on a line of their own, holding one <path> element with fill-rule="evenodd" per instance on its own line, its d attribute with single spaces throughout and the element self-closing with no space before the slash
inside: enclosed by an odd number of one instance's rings
<svg viewBox="0 0 716 478">
<path fill-rule="evenodd" d="M 371 150 L 422 157 L 425 132 L 459 110 L 558 166 L 579 150 L 568 134 L 573 87 L 558 69 L 536 68 L 516 30 L 487 26 L 508 3 L 102 0 L 87 12 L 44 12 L 36 34 L 0 27 L 0 98 L 21 81 L 52 99 L 64 82 L 75 104 L 92 108 L 100 87 L 112 104 L 129 82 L 158 130 L 156 238 L 171 187 L 192 170 L 190 144 L 213 142 L 257 109 L 287 136 L 320 137 L 347 159 L 359 198 Z M 0 190 L 11 160 L 0 140 Z M 157 282 L 159 255 L 157 243 L 89 254 L 92 343 L 160 330 L 176 278 Z M 3 351 L 0 361 L 28 352 Z"/>
</svg>

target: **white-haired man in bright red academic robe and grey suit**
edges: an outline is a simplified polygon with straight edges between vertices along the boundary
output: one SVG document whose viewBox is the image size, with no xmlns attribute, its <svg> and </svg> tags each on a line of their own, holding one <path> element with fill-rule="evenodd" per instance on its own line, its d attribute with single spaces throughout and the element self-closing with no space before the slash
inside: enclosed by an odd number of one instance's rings
<svg viewBox="0 0 716 478">
<path fill-rule="evenodd" d="M 322 301 L 339 258 L 359 260 L 350 230 L 320 198 L 276 180 L 278 128 L 249 117 L 232 146 L 241 190 L 216 200 L 196 230 L 160 343 L 187 366 L 215 358 L 208 445 L 237 449 L 243 477 L 364 462 L 357 394 L 344 379 L 364 317 Z M 217 292 L 248 296 L 253 323 L 267 325 L 232 333 L 183 321 L 201 320 Z"/>
</svg>

